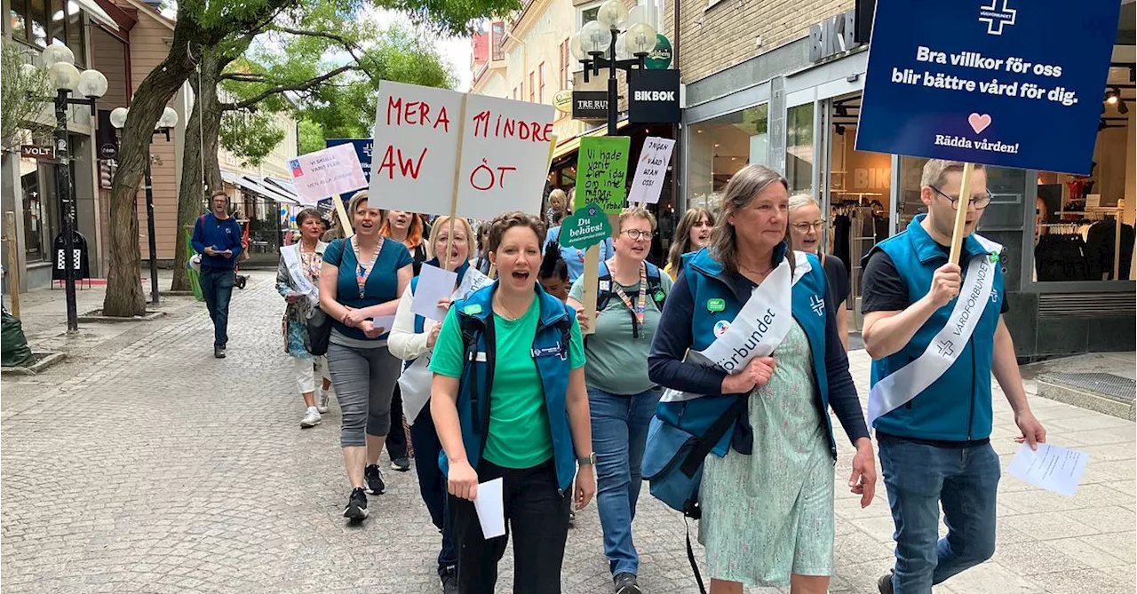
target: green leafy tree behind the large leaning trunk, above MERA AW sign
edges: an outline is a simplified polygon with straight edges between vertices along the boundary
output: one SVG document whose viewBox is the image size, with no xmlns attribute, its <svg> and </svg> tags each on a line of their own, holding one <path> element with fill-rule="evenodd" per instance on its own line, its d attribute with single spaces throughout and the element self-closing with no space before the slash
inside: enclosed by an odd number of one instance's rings
<svg viewBox="0 0 1137 594">
<path fill-rule="evenodd" d="M 186 129 L 186 142 L 204 150 L 186 152 L 183 160 L 180 228 L 191 226 L 201 214 L 206 187 L 222 187 L 217 147 L 247 165 L 259 165 L 284 137 L 275 125 L 276 114 L 312 111 L 323 115 L 322 122 L 334 133 L 370 135 L 379 81 L 453 85 L 445 60 L 418 37 L 348 17 L 329 1 L 296 25 L 269 26 L 235 59 L 231 60 L 233 53 L 213 55 L 204 62 L 201 80 L 190 81 L 198 100 Z M 214 81 L 216 87 L 198 91 Z M 318 145 L 309 145 L 310 150 L 324 148 L 323 127 L 318 129 Z M 309 147 L 300 152 L 310 152 Z M 177 242 L 175 291 L 189 288 L 189 256 L 185 243 Z"/>
</svg>

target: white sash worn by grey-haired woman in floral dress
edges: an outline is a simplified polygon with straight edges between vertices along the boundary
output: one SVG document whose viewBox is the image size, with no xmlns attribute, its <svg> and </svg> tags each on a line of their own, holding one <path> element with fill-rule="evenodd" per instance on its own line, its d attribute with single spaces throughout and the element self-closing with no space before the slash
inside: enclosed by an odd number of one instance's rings
<svg viewBox="0 0 1137 594">
<path fill-rule="evenodd" d="M 689 351 L 687 361 L 736 374 L 752 359 L 773 353 L 794 324 L 792 286 L 813 269 L 804 253 L 795 252 L 795 256 L 792 274 L 789 259 L 783 259 L 778 268 L 754 288 L 750 299 L 730 323 L 727 332 L 706 349 Z M 681 402 L 703 395 L 667 388 L 659 400 Z"/>
</svg>

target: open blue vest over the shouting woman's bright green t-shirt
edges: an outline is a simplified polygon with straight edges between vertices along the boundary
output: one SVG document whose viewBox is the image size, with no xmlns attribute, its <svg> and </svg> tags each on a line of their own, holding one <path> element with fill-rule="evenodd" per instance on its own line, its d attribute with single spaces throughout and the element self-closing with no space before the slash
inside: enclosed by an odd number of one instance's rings
<svg viewBox="0 0 1137 594">
<path fill-rule="evenodd" d="M 466 447 L 470 466 L 478 468 L 482 447 L 485 445 L 490 423 L 490 391 L 493 386 L 493 360 L 497 357 L 493 337 L 493 292 L 498 282 L 480 288 L 454 307 L 458 311 L 463 342 L 466 344 L 465 363 L 458 385 L 458 421 L 462 426 L 462 442 Z M 537 300 L 540 303 L 540 320 L 533 337 L 532 357 L 541 376 L 545 408 L 549 416 L 553 437 L 553 458 L 557 469 L 557 483 L 562 492 L 572 487 L 576 476 L 576 451 L 572 432 L 568 429 L 568 410 L 565 394 L 568 391 L 568 374 L 572 363 L 568 357 L 573 319 L 576 313 L 559 299 L 548 294 L 538 284 Z M 439 455 L 442 472 L 449 472 L 446 452 Z"/>
</svg>

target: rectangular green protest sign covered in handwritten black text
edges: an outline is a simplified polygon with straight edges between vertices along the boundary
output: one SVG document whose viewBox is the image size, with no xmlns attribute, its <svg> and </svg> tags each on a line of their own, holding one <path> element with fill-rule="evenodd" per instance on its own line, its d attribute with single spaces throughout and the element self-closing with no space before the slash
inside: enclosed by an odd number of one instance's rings
<svg viewBox="0 0 1137 594">
<path fill-rule="evenodd" d="M 616 214 L 628 201 L 628 136 L 586 136 L 580 140 L 576 193 L 584 192 L 586 204 L 598 204 L 604 212 Z"/>
</svg>

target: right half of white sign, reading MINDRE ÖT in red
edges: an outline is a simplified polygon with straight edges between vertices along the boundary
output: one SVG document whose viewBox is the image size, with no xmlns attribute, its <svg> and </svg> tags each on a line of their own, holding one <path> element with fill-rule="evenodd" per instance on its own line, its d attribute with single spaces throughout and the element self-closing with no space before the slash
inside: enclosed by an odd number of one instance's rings
<svg viewBox="0 0 1137 594">
<path fill-rule="evenodd" d="M 540 212 L 554 112 L 553 106 L 470 95 L 458 216 L 492 219 L 507 210 Z"/>
</svg>

